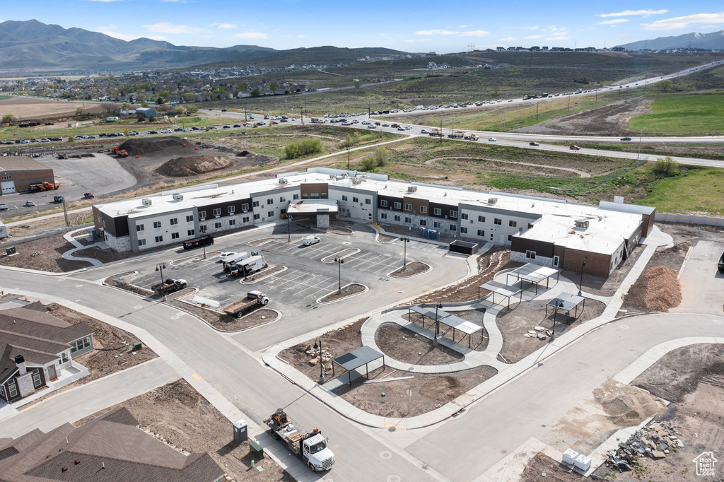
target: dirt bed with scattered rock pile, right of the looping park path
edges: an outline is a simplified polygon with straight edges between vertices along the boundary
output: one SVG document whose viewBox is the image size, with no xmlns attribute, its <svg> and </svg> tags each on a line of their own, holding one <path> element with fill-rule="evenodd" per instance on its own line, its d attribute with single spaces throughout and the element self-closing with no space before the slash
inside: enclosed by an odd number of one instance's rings
<svg viewBox="0 0 724 482">
<path fill-rule="evenodd" d="M 502 314 L 497 316 L 497 326 L 503 338 L 500 354 L 504 357 L 504 361 L 515 363 L 523 360 L 523 358 L 550 342 L 548 337 L 538 339 L 523 336 L 530 330 L 534 330 L 534 326 L 542 326 L 544 329 L 552 331 L 553 310 L 549 308 L 548 316 L 545 316 L 546 303 L 547 301 L 523 302 L 516 305 L 512 310 L 504 310 Z M 556 336 L 560 336 L 586 321 L 597 318 L 606 309 L 606 305 L 597 300 L 587 299 L 586 307 L 583 311 L 581 311 L 581 308 L 582 305 L 578 308 L 578 318 L 573 318 L 574 313 L 571 313 L 570 318 L 565 313 L 558 313 L 555 322 Z"/>
</svg>

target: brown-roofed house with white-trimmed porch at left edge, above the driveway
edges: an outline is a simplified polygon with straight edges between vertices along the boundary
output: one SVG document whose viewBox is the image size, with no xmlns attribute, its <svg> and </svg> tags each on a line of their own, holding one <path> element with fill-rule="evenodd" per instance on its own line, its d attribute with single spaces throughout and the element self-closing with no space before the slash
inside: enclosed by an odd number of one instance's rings
<svg viewBox="0 0 724 482">
<path fill-rule="evenodd" d="M 17 402 L 43 387 L 59 389 L 88 375 L 73 358 L 90 351 L 90 326 L 62 321 L 40 302 L 0 311 L 0 398 Z"/>
</svg>

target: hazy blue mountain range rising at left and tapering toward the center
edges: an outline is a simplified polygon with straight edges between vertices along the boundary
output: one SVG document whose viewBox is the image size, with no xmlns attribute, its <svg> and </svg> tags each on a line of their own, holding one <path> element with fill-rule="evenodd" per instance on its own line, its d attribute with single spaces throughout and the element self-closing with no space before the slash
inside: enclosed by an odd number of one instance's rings
<svg viewBox="0 0 724 482">
<path fill-rule="evenodd" d="M 263 58 L 265 66 L 292 63 L 353 62 L 363 56 L 405 54 L 389 48 L 313 47 L 291 50 L 253 45 L 227 48 L 176 46 L 151 38 L 123 41 L 83 28 L 62 28 L 38 20 L 0 23 L 0 69 L 41 72 L 59 69 L 133 69 L 191 67 L 198 64 L 252 64 Z M 278 56 L 275 62 L 274 57 Z M 316 63 L 316 62 L 315 62 Z"/>
</svg>

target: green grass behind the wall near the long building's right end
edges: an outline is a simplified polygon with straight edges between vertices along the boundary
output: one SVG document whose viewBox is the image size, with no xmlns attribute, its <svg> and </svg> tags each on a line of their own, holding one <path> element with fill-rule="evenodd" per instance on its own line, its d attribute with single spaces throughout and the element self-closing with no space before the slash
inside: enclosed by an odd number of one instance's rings
<svg viewBox="0 0 724 482">
<path fill-rule="evenodd" d="M 681 176 L 652 182 L 646 198 L 636 204 L 665 213 L 699 212 L 724 215 L 724 169 L 691 169 Z"/>
</svg>

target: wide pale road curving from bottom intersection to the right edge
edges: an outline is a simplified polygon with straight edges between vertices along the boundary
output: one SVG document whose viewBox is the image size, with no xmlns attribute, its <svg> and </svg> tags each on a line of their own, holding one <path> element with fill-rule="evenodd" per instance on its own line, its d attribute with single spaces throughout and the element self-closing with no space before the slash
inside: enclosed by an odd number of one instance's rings
<svg viewBox="0 0 724 482">
<path fill-rule="evenodd" d="M 451 481 L 475 479 L 530 437 L 564 451 L 552 426 L 593 389 L 662 342 L 724 337 L 722 321 L 657 314 L 602 326 L 406 449 Z M 441 447 L 465 449 L 452 456 Z"/>
</svg>

